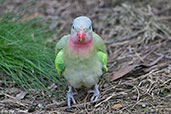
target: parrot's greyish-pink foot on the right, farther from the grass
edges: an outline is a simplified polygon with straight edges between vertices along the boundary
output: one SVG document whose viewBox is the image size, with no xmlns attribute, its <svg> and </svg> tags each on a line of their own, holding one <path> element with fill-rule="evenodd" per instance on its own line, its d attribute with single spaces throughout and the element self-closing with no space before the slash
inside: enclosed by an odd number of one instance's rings
<svg viewBox="0 0 171 114">
<path fill-rule="evenodd" d="M 100 96 L 100 92 L 99 92 L 99 89 L 98 89 L 98 85 L 96 84 L 94 86 L 94 90 L 89 90 L 88 93 L 94 93 L 90 100 L 91 100 L 91 102 L 96 102 L 97 99 Z"/>
</svg>

